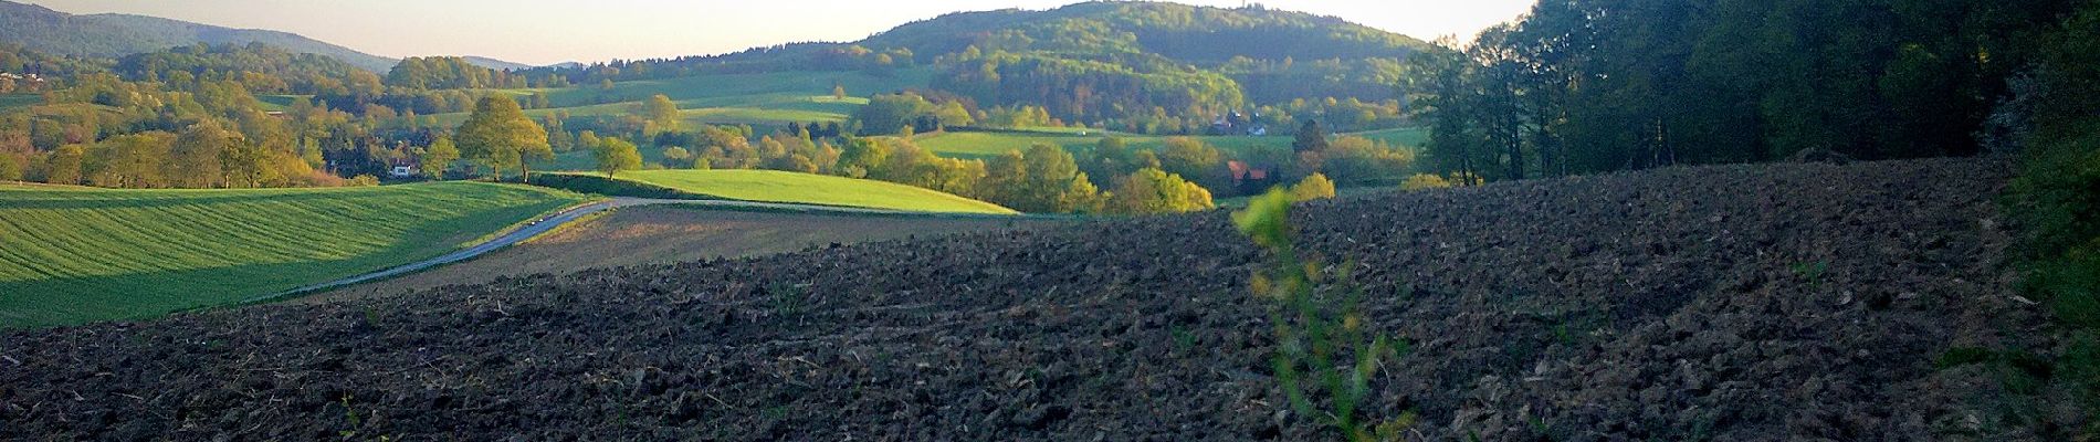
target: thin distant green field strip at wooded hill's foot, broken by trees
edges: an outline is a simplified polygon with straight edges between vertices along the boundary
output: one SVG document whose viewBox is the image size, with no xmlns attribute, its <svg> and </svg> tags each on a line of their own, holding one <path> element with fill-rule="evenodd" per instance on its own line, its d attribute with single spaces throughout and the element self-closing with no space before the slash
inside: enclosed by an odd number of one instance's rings
<svg viewBox="0 0 2100 442">
<path fill-rule="evenodd" d="M 1056 145 L 1063 149 L 1086 149 L 1100 142 L 1102 136 L 1121 136 L 1126 145 L 1134 149 L 1161 149 L 1170 136 L 1151 134 L 1121 134 L 1121 132 L 1100 132 L 1100 130 L 1027 130 L 1027 132 L 939 132 L 922 134 L 911 138 L 918 147 L 924 147 L 943 157 L 998 157 L 1006 151 L 1027 151 L 1037 142 Z M 1371 140 L 1382 140 L 1394 147 L 1422 147 L 1428 140 L 1428 130 L 1401 128 L 1401 130 L 1373 130 L 1354 132 L 1344 136 L 1363 136 Z M 1226 153 L 1247 151 L 1247 149 L 1289 149 L 1294 136 L 1193 136 Z"/>
</svg>

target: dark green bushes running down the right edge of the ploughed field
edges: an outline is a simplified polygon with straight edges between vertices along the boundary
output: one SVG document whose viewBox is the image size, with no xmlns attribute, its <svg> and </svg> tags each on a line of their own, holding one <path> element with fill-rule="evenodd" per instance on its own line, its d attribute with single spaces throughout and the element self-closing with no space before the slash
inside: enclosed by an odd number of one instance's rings
<svg viewBox="0 0 2100 442">
<path fill-rule="evenodd" d="M 2100 436 L 2100 2 L 2075 4 L 2037 23 L 2031 69 L 1984 119 L 1989 147 L 2020 153 L 2006 212 L 2024 230 L 2022 289 L 2073 329 L 2054 362 L 2085 425 L 2043 436 L 2066 440 Z"/>
</svg>

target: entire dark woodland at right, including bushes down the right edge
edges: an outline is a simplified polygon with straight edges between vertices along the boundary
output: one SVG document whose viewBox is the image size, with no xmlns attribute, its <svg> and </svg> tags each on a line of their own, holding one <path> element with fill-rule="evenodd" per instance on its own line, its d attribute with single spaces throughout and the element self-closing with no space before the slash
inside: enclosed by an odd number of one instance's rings
<svg viewBox="0 0 2100 442">
<path fill-rule="evenodd" d="M 2100 404 L 2100 2 L 1544 0 L 1407 67 L 1462 178 L 2018 157 L 2026 293 L 2081 329 L 2052 364 Z"/>
</svg>

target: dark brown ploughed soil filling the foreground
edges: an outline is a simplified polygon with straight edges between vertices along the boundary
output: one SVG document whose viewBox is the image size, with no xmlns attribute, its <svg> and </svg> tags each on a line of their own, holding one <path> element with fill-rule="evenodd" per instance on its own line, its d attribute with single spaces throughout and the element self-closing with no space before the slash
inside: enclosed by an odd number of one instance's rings
<svg viewBox="0 0 2100 442">
<path fill-rule="evenodd" d="M 1991 367 L 1934 369 L 2052 346 L 2001 268 L 2006 176 L 1684 168 L 1296 218 L 1415 344 L 1371 413 L 1418 440 L 2043 440 Z M 1334 438 L 1266 373 L 1260 260 L 1212 212 L 8 331 L 0 438 Z"/>
</svg>

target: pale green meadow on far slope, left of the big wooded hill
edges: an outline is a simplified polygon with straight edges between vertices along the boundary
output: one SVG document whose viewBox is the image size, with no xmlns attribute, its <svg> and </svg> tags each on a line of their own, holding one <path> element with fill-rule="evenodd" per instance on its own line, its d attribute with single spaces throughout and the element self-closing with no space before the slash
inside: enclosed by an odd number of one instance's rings
<svg viewBox="0 0 2100 442">
<path fill-rule="evenodd" d="M 640 101 L 664 94 L 678 103 L 685 124 L 752 124 L 785 126 L 790 121 L 846 121 L 867 105 L 869 94 L 899 92 L 926 84 L 926 69 L 903 69 L 892 75 L 861 71 L 779 71 L 718 73 L 668 80 L 615 82 L 613 88 L 582 84 L 571 88 L 504 90 L 517 96 L 546 94 L 552 107 L 527 109 L 544 117 L 567 111 L 569 117 L 624 115 Z M 846 98 L 834 98 L 832 86 L 844 86 Z M 456 126 L 466 113 L 439 113 L 437 121 Z"/>
</svg>

